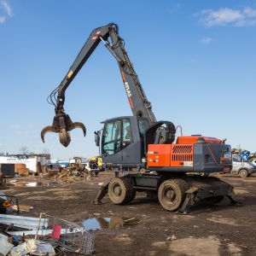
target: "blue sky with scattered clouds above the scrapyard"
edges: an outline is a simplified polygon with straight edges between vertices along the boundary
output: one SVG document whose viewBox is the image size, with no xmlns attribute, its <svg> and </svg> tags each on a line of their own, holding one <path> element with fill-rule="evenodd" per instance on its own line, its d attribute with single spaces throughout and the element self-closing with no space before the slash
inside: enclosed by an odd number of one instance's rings
<svg viewBox="0 0 256 256">
<path fill-rule="evenodd" d="M 65 111 L 83 122 L 64 148 L 46 101 L 87 38 L 114 22 L 156 119 L 183 135 L 227 138 L 256 151 L 256 1 L 0 0 L 0 152 L 49 152 L 52 159 L 98 154 L 94 131 L 131 115 L 117 62 L 99 44 L 66 91 Z M 177 136 L 180 130 L 177 131 Z"/>
</svg>

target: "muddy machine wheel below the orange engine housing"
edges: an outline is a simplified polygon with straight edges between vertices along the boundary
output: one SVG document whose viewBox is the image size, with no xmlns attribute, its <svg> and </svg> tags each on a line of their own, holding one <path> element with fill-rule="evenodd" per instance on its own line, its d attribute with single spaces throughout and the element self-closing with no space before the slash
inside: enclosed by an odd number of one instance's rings
<svg viewBox="0 0 256 256">
<path fill-rule="evenodd" d="M 167 179 L 158 190 L 160 205 L 167 211 L 176 211 L 182 206 L 187 189 L 189 185 L 182 179 Z"/>
</svg>

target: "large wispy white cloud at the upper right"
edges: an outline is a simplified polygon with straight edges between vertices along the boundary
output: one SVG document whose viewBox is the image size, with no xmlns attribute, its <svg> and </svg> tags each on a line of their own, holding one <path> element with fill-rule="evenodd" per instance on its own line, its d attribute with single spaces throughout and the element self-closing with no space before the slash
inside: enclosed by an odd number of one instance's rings
<svg viewBox="0 0 256 256">
<path fill-rule="evenodd" d="M 195 16 L 200 17 L 200 21 L 206 26 L 255 26 L 256 25 L 256 9 L 245 8 L 229 9 L 222 8 L 218 10 L 205 9 L 200 14 Z"/>
</svg>

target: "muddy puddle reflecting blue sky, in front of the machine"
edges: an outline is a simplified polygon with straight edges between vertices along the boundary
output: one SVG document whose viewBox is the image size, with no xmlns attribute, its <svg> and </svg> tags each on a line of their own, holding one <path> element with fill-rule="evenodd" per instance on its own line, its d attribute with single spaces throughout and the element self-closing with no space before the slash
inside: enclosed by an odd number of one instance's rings
<svg viewBox="0 0 256 256">
<path fill-rule="evenodd" d="M 84 230 L 125 230 L 139 223 L 137 218 L 120 216 L 97 217 L 84 220 Z"/>
</svg>

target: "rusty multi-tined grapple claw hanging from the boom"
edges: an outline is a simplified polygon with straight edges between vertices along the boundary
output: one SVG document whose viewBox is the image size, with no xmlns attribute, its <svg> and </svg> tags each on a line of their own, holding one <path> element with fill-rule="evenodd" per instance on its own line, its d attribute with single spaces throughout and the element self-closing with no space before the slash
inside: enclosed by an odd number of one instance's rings
<svg viewBox="0 0 256 256">
<path fill-rule="evenodd" d="M 70 132 L 75 128 L 81 128 L 84 132 L 84 137 L 86 135 L 86 128 L 83 123 L 79 122 L 72 122 L 68 114 L 66 113 L 61 113 L 61 114 L 56 114 L 53 120 L 52 126 L 46 126 L 44 129 L 41 131 L 41 138 L 44 143 L 44 135 L 47 132 L 56 132 L 59 133 L 60 137 L 60 143 L 64 146 L 67 147 L 68 144 L 71 142 L 70 138 Z"/>
</svg>

